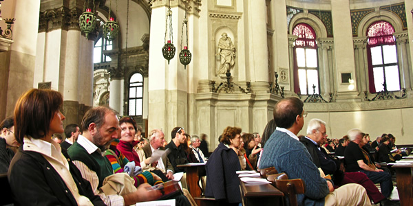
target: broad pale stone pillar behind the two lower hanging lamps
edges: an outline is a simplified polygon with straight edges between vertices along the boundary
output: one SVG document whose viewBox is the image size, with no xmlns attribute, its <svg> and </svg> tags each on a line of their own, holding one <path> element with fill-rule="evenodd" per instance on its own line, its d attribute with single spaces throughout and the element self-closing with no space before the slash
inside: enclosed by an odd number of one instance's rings
<svg viewBox="0 0 413 206">
<path fill-rule="evenodd" d="M 191 130 L 187 128 L 189 125 L 187 107 L 189 95 L 188 81 L 192 81 L 192 79 L 189 78 L 189 67 L 184 69 L 184 66 L 179 61 L 180 35 L 182 33 L 185 4 L 182 1 L 171 1 L 172 38 L 173 45 L 176 47 L 176 54 L 169 62 L 162 56 L 161 52 L 162 47 L 165 45 L 163 40 L 165 39 L 165 19 L 168 6 L 169 2 L 167 1 L 153 1 L 151 25 L 162 26 L 151 26 L 151 36 L 149 39 L 148 127 L 149 130 L 162 128 L 165 132 L 165 139 L 171 138 L 168 134 L 175 126 L 182 126 L 187 129 L 188 133 L 191 133 Z M 196 8 L 192 9 L 198 10 L 199 5 L 194 6 Z M 189 34 L 191 33 L 189 32 Z M 167 32 L 167 40 L 169 40 L 168 36 L 169 30 Z M 191 50 L 191 52 L 194 50 Z"/>
</svg>

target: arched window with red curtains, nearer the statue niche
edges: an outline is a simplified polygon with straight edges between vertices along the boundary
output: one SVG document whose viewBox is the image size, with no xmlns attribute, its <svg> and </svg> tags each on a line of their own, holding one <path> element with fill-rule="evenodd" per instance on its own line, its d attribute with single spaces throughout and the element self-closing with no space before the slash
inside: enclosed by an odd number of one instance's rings
<svg viewBox="0 0 413 206">
<path fill-rule="evenodd" d="M 294 27 L 293 35 L 298 36 L 294 47 L 294 91 L 302 95 L 319 93 L 319 65 L 315 32 L 310 25 L 299 23 Z"/>
</svg>

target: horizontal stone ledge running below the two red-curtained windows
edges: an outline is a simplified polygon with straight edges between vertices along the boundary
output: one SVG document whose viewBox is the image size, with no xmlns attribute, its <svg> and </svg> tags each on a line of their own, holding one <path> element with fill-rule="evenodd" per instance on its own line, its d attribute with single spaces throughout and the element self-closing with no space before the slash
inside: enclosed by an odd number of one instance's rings
<svg viewBox="0 0 413 206">
<path fill-rule="evenodd" d="M 308 112 L 374 111 L 413 107 L 413 99 L 304 104 Z"/>
</svg>

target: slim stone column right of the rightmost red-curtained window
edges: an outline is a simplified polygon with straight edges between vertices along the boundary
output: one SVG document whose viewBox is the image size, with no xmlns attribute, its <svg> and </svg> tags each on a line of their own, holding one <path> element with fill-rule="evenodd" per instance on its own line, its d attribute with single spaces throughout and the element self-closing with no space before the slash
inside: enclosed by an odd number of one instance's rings
<svg viewBox="0 0 413 206">
<path fill-rule="evenodd" d="M 407 54 L 407 43 L 408 43 L 408 34 L 403 32 L 402 34 L 393 34 L 396 37 L 396 49 L 397 57 L 399 62 L 399 75 L 400 75 L 400 84 L 401 88 L 411 89 L 412 84 L 410 80 L 410 69 L 409 61 Z"/>
</svg>

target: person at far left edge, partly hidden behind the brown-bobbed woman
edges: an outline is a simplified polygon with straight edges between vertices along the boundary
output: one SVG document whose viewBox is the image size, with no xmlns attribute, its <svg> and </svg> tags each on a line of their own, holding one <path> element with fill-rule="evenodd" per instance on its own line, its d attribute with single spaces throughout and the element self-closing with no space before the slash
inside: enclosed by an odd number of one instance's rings
<svg viewBox="0 0 413 206">
<path fill-rule="evenodd" d="M 14 151 L 11 148 L 16 148 L 20 144 L 14 137 L 14 119 L 8 117 L 0 124 L 0 173 L 8 171 L 10 161 L 14 157 Z"/>
</svg>

